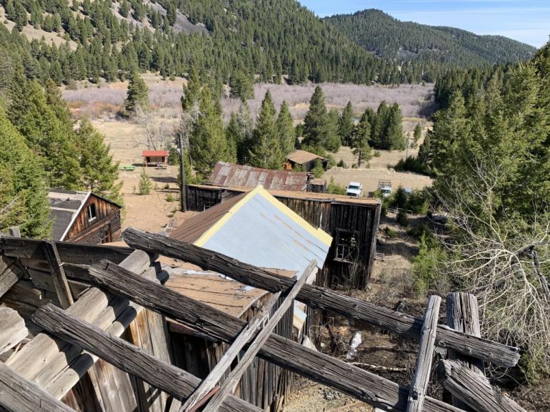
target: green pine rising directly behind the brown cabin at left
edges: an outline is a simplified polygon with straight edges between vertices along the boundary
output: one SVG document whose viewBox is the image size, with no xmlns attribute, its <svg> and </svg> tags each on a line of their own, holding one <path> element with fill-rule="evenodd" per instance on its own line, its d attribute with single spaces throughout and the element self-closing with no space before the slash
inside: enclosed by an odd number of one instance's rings
<svg viewBox="0 0 550 412">
<path fill-rule="evenodd" d="M 119 163 L 113 161 L 111 146 L 105 144 L 103 135 L 91 125 L 88 118 L 81 119 L 76 138 L 80 152 L 82 185 L 86 190 L 122 205 L 122 182 L 116 183 L 119 178 Z"/>
</svg>

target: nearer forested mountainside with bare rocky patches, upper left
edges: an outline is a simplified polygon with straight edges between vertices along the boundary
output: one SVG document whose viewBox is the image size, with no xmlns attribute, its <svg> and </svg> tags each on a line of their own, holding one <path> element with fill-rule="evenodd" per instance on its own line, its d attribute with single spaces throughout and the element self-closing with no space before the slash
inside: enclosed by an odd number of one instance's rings
<svg viewBox="0 0 550 412">
<path fill-rule="evenodd" d="M 29 78 L 56 83 L 125 78 L 131 71 L 292 83 L 406 82 L 406 70 L 372 56 L 294 0 L 0 0 L 0 56 Z M 189 29 L 186 30 L 185 28 Z M 11 30 L 9 30 L 11 29 Z M 29 29 L 50 41 L 29 39 Z M 6 67 L 4 69 L 6 69 Z"/>
</svg>

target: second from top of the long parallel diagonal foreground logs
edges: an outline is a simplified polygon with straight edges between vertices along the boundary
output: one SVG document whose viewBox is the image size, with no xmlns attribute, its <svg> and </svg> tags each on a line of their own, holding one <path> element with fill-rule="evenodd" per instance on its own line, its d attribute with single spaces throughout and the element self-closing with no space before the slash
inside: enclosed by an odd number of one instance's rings
<svg viewBox="0 0 550 412">
<path fill-rule="evenodd" d="M 146 282 L 110 262 L 100 262 L 91 266 L 90 279 L 105 289 L 122 294 L 148 309 L 181 321 L 211 336 L 211 339 L 231 343 L 246 324 L 239 318 L 194 301 L 171 289 L 153 282 Z M 271 334 L 259 352 L 259 356 L 373 406 L 379 406 L 388 411 L 406 410 L 409 388 L 308 349 L 277 334 Z M 426 397 L 424 410 L 428 412 L 460 411 L 458 408 L 429 397 Z"/>
</svg>

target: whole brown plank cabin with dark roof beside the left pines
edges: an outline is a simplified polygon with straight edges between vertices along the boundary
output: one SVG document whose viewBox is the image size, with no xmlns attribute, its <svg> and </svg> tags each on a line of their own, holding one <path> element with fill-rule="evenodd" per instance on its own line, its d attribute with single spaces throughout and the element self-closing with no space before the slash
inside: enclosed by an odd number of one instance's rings
<svg viewBox="0 0 550 412">
<path fill-rule="evenodd" d="M 121 206 L 92 192 L 48 192 L 51 237 L 64 242 L 103 244 L 121 236 Z"/>
</svg>

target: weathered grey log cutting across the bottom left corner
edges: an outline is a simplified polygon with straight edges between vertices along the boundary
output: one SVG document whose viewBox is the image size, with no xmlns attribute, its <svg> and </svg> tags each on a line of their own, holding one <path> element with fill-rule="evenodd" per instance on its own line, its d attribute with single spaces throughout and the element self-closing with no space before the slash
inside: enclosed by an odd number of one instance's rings
<svg viewBox="0 0 550 412">
<path fill-rule="evenodd" d="M 74 409 L 58 401 L 36 383 L 19 375 L 2 362 L 0 362 L 0 406 L 10 412 L 74 412 Z"/>
</svg>

